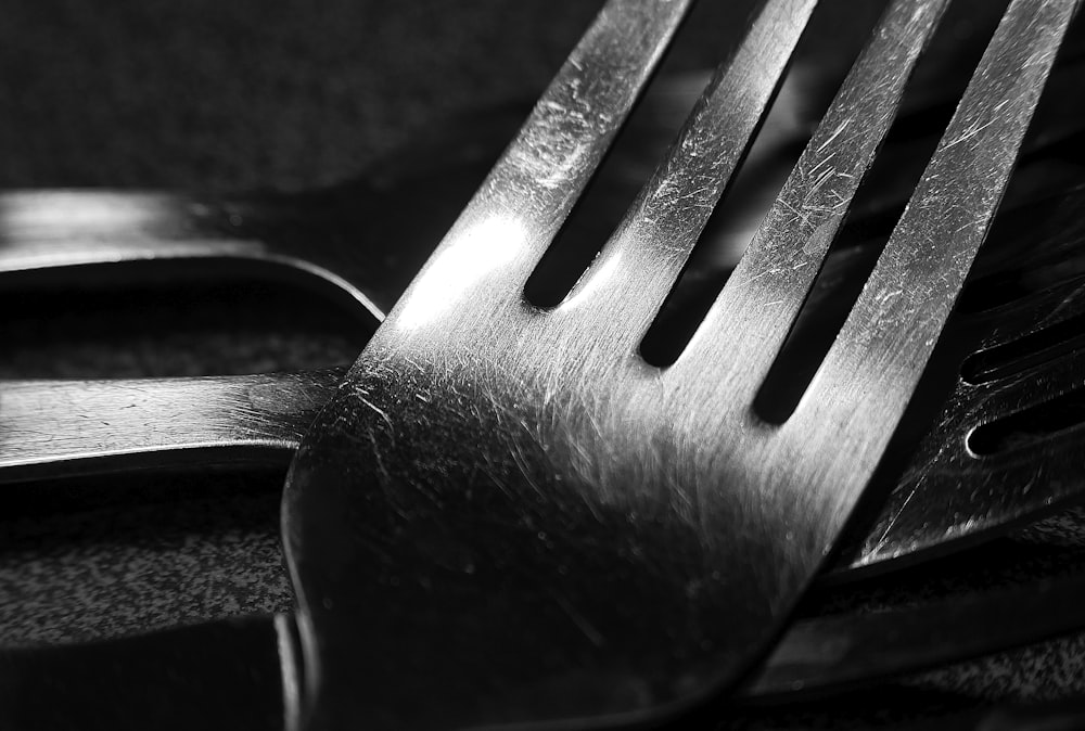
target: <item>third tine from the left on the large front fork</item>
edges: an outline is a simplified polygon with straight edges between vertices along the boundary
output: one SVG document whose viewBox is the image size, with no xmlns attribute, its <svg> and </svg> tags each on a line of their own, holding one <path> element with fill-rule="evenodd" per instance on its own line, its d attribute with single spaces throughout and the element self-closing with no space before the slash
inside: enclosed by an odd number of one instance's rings
<svg viewBox="0 0 1085 731">
<path fill-rule="evenodd" d="M 742 355 L 722 386 L 737 402 L 753 399 L 783 346 L 947 4 L 899 0 L 885 11 L 690 343 L 684 366 L 694 369 L 705 356 Z"/>
</svg>

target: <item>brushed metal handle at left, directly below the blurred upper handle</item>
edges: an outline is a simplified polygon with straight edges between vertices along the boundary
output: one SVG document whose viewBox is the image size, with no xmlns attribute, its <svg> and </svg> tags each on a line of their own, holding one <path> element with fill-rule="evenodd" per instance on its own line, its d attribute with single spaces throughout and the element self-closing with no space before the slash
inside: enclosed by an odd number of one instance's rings
<svg viewBox="0 0 1085 731">
<path fill-rule="evenodd" d="M 224 462 L 285 465 L 343 375 L 3 382 L 0 483 Z"/>
</svg>

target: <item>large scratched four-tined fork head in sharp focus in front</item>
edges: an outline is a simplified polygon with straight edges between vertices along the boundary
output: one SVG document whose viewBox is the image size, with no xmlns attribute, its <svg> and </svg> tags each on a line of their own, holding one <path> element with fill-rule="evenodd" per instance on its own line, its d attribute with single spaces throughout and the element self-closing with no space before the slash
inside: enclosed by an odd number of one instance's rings
<svg viewBox="0 0 1085 731">
<path fill-rule="evenodd" d="M 688 3 L 612 0 L 303 440 L 283 535 L 315 728 L 601 726 L 733 683 L 832 547 L 1075 3 L 1017 0 L 783 423 L 752 403 L 933 31 L 897 0 L 677 362 L 638 345 L 814 0 L 771 0 L 558 307 L 523 286 Z"/>
</svg>

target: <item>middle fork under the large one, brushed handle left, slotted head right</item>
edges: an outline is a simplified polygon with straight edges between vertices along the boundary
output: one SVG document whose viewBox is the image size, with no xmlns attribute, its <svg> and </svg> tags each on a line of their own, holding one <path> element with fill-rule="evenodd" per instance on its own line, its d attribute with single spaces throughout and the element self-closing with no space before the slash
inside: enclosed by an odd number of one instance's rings
<svg viewBox="0 0 1085 731">
<path fill-rule="evenodd" d="M 1043 516 L 1085 488 L 1076 479 L 1074 423 L 1052 420 L 1052 433 L 1034 429 L 1031 440 L 983 457 L 968 446 L 978 425 L 1005 425 L 1030 406 L 1072 397 L 1077 387 L 1077 341 L 1057 331 L 1072 330 L 1081 317 L 1085 251 L 1075 211 L 1082 205 L 1085 189 L 1078 188 L 996 220 L 963 294 L 962 309 L 974 311 L 950 318 L 929 369 L 940 375 L 928 400 L 945 402 L 937 426 L 889 499 L 877 503 L 877 517 L 857 523 L 863 533 L 852 533 L 861 538 L 838 555 L 833 580 L 860 575 L 842 573 L 846 567 L 889 569 L 991 536 Z M 1041 228 L 1038 220 L 1045 221 Z M 821 319 L 845 313 L 845 283 L 857 281 L 856 272 L 868 269 L 877 253 L 869 245 L 830 256 L 809 309 Z M 1014 296 L 992 300 L 992 288 Z M 807 355 L 792 359 L 792 373 L 816 366 L 818 349 L 805 341 L 822 329 L 815 319 L 796 325 L 789 347 Z M 962 363 L 974 368 L 1010 347 L 1016 350 L 982 383 L 960 375 Z M 186 464 L 285 465 L 343 373 L 0 382 L 0 483 Z M 953 383 L 948 398 L 945 381 Z"/>
</svg>

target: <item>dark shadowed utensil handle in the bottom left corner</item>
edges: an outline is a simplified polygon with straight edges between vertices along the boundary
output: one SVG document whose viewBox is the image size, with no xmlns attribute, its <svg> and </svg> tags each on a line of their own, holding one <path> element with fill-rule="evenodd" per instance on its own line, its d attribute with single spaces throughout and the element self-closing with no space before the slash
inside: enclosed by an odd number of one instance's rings
<svg viewBox="0 0 1085 731">
<path fill-rule="evenodd" d="M 282 731 L 293 620 L 263 615 L 87 644 L 0 650 L 0 727 Z"/>
</svg>

